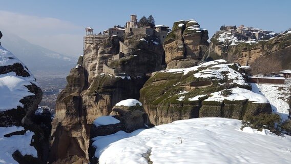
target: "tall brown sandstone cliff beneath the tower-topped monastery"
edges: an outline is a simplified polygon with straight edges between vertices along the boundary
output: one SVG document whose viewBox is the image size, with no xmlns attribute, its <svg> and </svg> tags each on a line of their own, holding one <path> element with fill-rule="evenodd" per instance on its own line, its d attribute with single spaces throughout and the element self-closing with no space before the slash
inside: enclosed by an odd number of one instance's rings
<svg viewBox="0 0 291 164">
<path fill-rule="evenodd" d="M 163 50 L 154 44 L 154 37 L 131 35 L 124 38 L 124 43 L 121 40 L 112 36 L 87 45 L 84 56 L 71 70 L 68 84 L 57 98 L 50 162 L 88 162 L 94 119 L 109 115 L 120 100 L 139 99 L 139 90 L 148 79 L 146 74 L 160 70 Z M 128 53 L 113 58 L 124 52 L 124 45 Z M 102 73 L 103 64 L 115 73 Z"/>
</svg>

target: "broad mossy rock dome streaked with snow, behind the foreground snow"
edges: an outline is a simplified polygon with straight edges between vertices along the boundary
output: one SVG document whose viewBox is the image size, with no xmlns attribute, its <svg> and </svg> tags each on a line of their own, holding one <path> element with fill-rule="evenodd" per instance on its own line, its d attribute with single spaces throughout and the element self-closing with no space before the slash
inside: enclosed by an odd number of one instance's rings
<svg viewBox="0 0 291 164">
<path fill-rule="evenodd" d="M 271 113 L 271 106 L 267 101 L 255 104 L 249 98 L 227 98 L 237 94 L 236 87 L 241 92 L 236 96 L 253 92 L 246 90 L 250 87 L 245 83 L 242 69 L 236 64 L 225 62 L 215 60 L 192 68 L 153 73 L 140 90 L 140 101 L 149 121 L 154 125 L 161 125 L 197 117 L 243 119 L 246 115 Z M 212 94 L 216 92 L 225 99 L 213 99 Z"/>
</svg>

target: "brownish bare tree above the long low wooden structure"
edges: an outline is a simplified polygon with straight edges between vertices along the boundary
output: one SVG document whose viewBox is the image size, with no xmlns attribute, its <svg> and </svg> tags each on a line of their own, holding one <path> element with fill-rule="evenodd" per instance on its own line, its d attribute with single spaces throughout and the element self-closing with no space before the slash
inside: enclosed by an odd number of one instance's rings
<svg viewBox="0 0 291 164">
<path fill-rule="evenodd" d="M 259 57 L 251 63 L 252 75 L 271 74 L 282 70 L 282 65 L 278 57 L 274 55 Z"/>
</svg>

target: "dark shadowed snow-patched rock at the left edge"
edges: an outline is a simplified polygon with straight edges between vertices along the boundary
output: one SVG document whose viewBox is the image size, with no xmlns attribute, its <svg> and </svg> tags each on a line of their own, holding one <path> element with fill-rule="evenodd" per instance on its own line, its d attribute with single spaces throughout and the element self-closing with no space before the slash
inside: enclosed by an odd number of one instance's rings
<svg viewBox="0 0 291 164">
<path fill-rule="evenodd" d="M 42 95 L 43 92 L 25 65 L 11 52 L 0 46 L 0 128 L 3 133 L 1 135 L 4 135 L 0 149 L 4 152 L 9 149 L 6 152 L 7 158 L 1 159 L 11 159 L 11 161 L 2 162 L 47 162 L 51 130 L 50 116 L 47 119 L 41 115 L 35 115 Z M 23 146 L 17 148 L 18 145 L 13 144 L 22 137 L 26 138 L 30 135 L 30 140 L 22 143 Z M 13 141 L 13 138 L 18 139 Z M 9 141 L 11 143 L 5 146 Z M 3 145 L 4 147 L 1 147 Z M 9 154 L 11 151 L 12 154 Z"/>
</svg>

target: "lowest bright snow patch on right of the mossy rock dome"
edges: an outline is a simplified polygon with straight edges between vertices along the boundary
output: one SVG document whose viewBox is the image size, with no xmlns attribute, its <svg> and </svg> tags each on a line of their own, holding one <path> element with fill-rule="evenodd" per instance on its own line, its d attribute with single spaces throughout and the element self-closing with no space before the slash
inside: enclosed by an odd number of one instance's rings
<svg viewBox="0 0 291 164">
<path fill-rule="evenodd" d="M 209 98 L 205 99 L 204 101 L 218 101 L 218 102 L 222 102 L 224 99 L 226 100 L 230 100 L 230 101 L 235 101 L 235 100 L 245 100 L 248 99 L 248 101 L 252 101 L 253 103 L 268 103 L 268 100 L 257 93 L 254 93 L 250 90 L 247 89 L 243 89 L 243 88 L 232 88 L 229 89 L 231 94 L 230 95 L 226 95 L 224 96 L 222 94 L 222 91 L 219 92 L 214 92 L 211 93 Z"/>
</svg>

